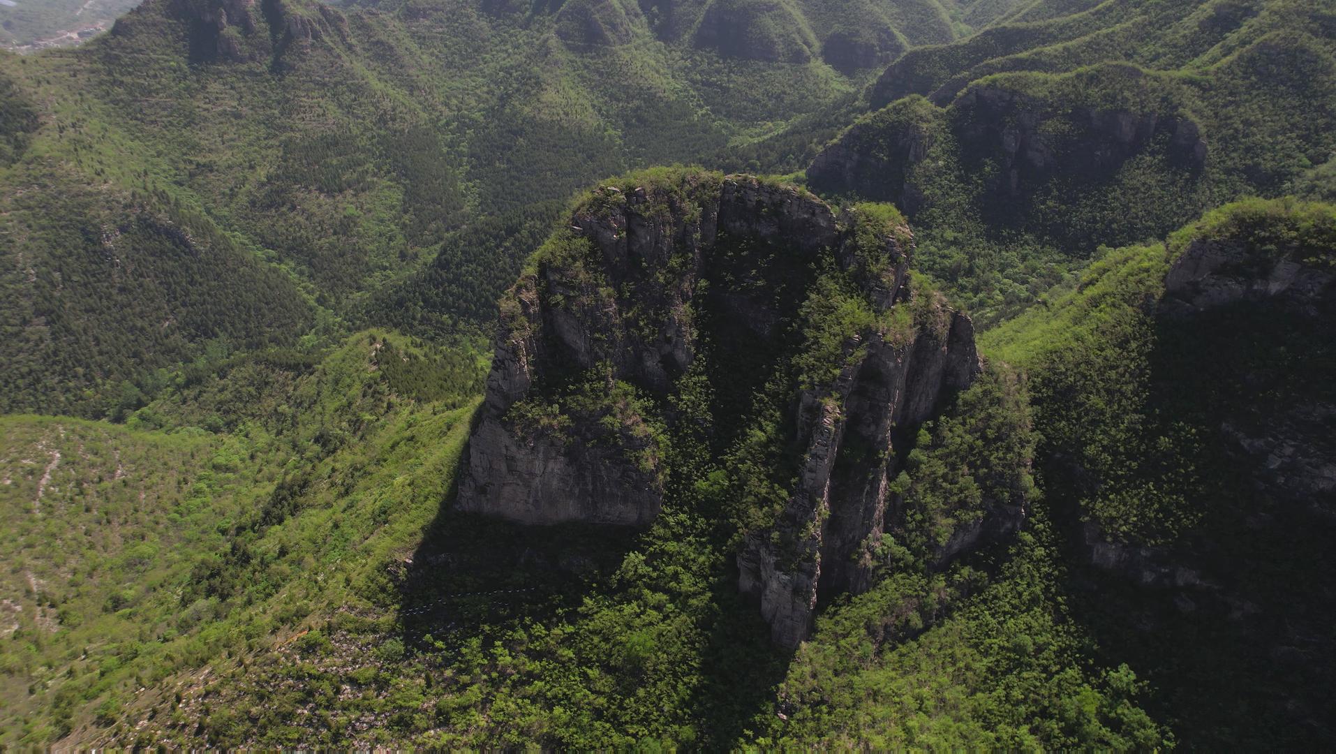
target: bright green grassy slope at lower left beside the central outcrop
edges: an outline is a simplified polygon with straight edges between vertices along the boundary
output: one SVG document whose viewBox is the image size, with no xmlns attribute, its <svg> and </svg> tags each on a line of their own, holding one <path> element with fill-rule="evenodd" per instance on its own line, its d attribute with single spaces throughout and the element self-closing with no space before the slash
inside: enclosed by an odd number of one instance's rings
<svg viewBox="0 0 1336 754">
<path fill-rule="evenodd" d="M 395 370 L 430 356 L 363 333 L 295 373 L 239 365 L 200 388 L 223 394 L 180 398 L 238 409 L 224 433 L 172 428 L 171 398 L 131 420 L 166 429 L 5 417 L 4 743 L 162 714 L 190 674 L 383 599 L 385 564 L 449 489 L 478 385 L 476 362 L 462 393 Z M 291 418 L 247 416 L 238 381 Z"/>
</svg>

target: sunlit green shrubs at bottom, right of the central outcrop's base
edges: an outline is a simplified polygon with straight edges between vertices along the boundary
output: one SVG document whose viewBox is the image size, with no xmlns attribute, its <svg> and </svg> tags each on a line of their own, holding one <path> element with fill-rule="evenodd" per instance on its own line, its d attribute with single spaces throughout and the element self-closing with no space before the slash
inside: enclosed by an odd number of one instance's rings
<svg viewBox="0 0 1336 754">
<path fill-rule="evenodd" d="M 832 610 L 779 687 L 767 745 L 878 749 L 1172 747 L 1126 664 L 1092 667 L 1042 520 L 994 576 L 891 578 Z M 994 566 L 997 567 L 997 566 Z M 925 631 L 925 626 L 937 623 Z"/>
</svg>

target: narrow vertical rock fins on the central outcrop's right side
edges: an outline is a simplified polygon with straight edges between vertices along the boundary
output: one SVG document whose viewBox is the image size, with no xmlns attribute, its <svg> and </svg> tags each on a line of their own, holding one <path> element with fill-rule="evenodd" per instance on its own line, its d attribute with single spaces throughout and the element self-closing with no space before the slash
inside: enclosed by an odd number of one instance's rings
<svg viewBox="0 0 1336 754">
<path fill-rule="evenodd" d="M 860 357 L 832 385 L 799 394 L 806 452 L 798 488 L 774 528 L 748 535 L 737 557 L 741 591 L 760 602 L 775 643 L 784 647 L 807 638 L 819 602 L 871 586 L 864 556 L 886 521 L 899 517 L 888 505 L 895 504 L 891 480 L 903 468 L 903 429 L 931 418 L 943 394 L 969 386 L 979 372 L 973 325 L 951 311 L 912 341 L 874 337 L 850 346 Z"/>
</svg>

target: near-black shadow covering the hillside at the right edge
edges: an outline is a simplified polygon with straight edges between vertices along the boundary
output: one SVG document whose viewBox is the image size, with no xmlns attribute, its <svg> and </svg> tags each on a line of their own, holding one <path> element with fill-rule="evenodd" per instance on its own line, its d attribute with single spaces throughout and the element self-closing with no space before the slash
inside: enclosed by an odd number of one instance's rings
<svg viewBox="0 0 1336 754">
<path fill-rule="evenodd" d="M 1332 314 L 1248 303 L 1156 324 L 1148 404 L 1202 438 L 1184 501 L 1201 520 L 1153 551 L 1181 584 L 1085 568 L 1073 608 L 1188 749 L 1336 746 L 1336 508 L 1304 459 L 1336 437 Z M 1069 557 L 1085 560 L 1078 511 L 1062 508 Z"/>
</svg>

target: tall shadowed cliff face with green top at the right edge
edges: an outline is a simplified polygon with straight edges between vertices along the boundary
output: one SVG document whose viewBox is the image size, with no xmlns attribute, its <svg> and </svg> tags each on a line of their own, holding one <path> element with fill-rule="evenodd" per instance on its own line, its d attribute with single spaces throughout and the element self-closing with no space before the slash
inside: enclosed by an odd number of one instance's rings
<svg viewBox="0 0 1336 754">
<path fill-rule="evenodd" d="M 1255 709 L 1324 737 L 1329 702 L 1308 688 L 1336 659 L 1336 211 L 1244 202 L 1172 235 L 1168 253 L 1164 291 L 1142 303 L 1146 394 L 1196 438 L 1176 455 L 1194 477 L 1166 487 L 1190 523 L 1148 541 L 1088 520 L 1078 543 L 1138 587 L 1116 608 L 1128 627 L 1253 658 L 1230 674 L 1268 690 Z"/>
</svg>

